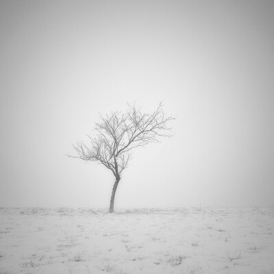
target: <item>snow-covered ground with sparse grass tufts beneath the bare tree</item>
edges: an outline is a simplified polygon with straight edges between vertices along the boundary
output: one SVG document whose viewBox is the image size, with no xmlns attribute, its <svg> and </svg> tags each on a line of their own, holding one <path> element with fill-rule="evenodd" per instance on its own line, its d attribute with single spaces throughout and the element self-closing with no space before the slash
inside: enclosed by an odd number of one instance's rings
<svg viewBox="0 0 274 274">
<path fill-rule="evenodd" d="M 0 273 L 274 273 L 274 208 L 1 208 Z"/>
</svg>

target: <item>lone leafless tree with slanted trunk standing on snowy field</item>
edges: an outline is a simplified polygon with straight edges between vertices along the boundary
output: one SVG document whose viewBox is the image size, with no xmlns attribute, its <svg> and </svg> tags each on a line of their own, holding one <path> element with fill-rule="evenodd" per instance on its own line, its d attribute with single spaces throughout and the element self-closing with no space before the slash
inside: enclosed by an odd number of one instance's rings
<svg viewBox="0 0 274 274">
<path fill-rule="evenodd" d="M 131 159 L 132 149 L 144 147 L 149 142 L 158 142 L 160 136 L 171 137 L 171 127 L 167 124 L 174 118 L 164 114 L 162 103 L 151 114 L 142 112 L 136 105 L 128 105 L 125 113 L 112 112 L 105 117 L 100 115 L 100 118 L 101 121 L 95 123 L 95 136 L 88 135 L 88 144 L 78 142 L 73 145 L 77 156 L 69 157 L 99 162 L 113 173 L 115 182 L 110 212 L 114 212 L 116 189 L 122 172 Z"/>
</svg>

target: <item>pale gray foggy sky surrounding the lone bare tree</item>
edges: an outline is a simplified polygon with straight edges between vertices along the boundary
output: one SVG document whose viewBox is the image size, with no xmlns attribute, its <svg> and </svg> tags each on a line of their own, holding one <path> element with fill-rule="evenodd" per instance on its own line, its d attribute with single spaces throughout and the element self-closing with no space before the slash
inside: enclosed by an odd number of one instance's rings
<svg viewBox="0 0 274 274">
<path fill-rule="evenodd" d="M 108 207 L 66 158 L 100 112 L 164 101 L 115 206 L 274 206 L 273 1 L 0 1 L 0 206 Z"/>
</svg>

